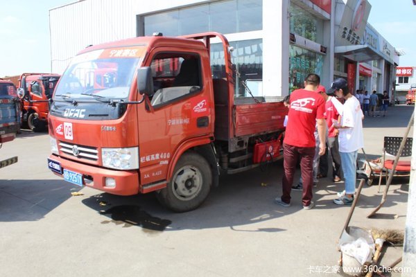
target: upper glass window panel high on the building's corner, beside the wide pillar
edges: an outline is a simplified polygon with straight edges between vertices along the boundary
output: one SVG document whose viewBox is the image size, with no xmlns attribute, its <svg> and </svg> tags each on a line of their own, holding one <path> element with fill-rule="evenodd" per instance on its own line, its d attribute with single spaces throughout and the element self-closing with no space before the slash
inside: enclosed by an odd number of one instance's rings
<svg viewBox="0 0 416 277">
<path fill-rule="evenodd" d="M 311 12 L 307 12 L 293 3 L 291 3 L 289 12 L 291 14 L 291 33 L 323 44 L 324 21 L 322 19 L 315 17 Z"/>
</svg>

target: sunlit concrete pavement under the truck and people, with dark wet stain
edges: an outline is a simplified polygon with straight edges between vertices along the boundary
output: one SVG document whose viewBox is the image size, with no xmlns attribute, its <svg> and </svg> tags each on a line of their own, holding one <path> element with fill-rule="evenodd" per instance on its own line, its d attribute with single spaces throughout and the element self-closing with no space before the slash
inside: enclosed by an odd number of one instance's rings
<svg viewBox="0 0 416 277">
<path fill-rule="evenodd" d="M 365 118 L 370 158 L 381 155 L 383 136 L 403 136 L 413 109 L 400 105 L 386 118 Z M 293 192 L 291 207 L 277 206 L 279 161 L 264 172 L 221 177 L 198 210 L 177 214 L 153 195 L 83 188 L 84 195 L 71 196 L 79 188 L 47 169 L 47 134 L 22 132 L 3 145 L 0 160 L 16 154 L 19 162 L 0 170 L 0 276 L 338 275 L 328 272 L 340 257 L 336 245 L 349 207 L 332 203 L 343 184 L 330 179 L 314 189 L 313 210 L 302 210 L 300 192 Z M 404 229 L 407 199 L 408 179 L 397 179 L 376 218 L 367 219 L 381 193 L 365 186 L 350 225 Z M 381 263 L 401 252 L 388 247 Z"/>
</svg>

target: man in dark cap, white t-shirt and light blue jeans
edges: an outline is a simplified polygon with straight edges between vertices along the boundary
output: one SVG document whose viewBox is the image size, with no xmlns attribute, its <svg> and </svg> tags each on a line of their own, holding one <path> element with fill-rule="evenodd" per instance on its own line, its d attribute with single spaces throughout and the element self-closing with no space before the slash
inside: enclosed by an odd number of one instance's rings
<svg viewBox="0 0 416 277">
<path fill-rule="evenodd" d="M 345 103 L 341 114 L 341 122 L 333 126 L 340 131 L 338 135 L 341 166 L 345 178 L 345 190 L 338 193 L 338 199 L 333 202 L 338 205 L 350 205 L 354 200 L 356 188 L 356 161 L 358 149 L 363 148 L 363 111 L 357 98 L 349 93 L 347 81 L 343 78 L 334 80 L 330 91 L 337 97 L 343 97 Z"/>
</svg>

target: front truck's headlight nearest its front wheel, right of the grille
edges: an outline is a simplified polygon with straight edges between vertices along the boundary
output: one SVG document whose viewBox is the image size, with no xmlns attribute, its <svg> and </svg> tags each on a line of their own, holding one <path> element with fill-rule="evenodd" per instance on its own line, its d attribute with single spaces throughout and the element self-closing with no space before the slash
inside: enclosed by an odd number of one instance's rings
<svg viewBox="0 0 416 277">
<path fill-rule="evenodd" d="M 123 170 L 139 168 L 139 148 L 103 148 L 101 158 L 106 168 Z"/>
</svg>

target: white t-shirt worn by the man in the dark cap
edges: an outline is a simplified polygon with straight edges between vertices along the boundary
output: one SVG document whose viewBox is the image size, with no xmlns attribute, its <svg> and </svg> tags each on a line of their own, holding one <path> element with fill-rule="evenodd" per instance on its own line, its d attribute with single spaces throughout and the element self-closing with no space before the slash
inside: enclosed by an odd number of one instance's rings
<svg viewBox="0 0 416 277">
<path fill-rule="evenodd" d="M 339 129 L 339 151 L 354 152 L 364 147 L 363 138 L 363 111 L 357 98 L 348 98 L 343 107 L 341 125 L 349 128 Z"/>
</svg>

